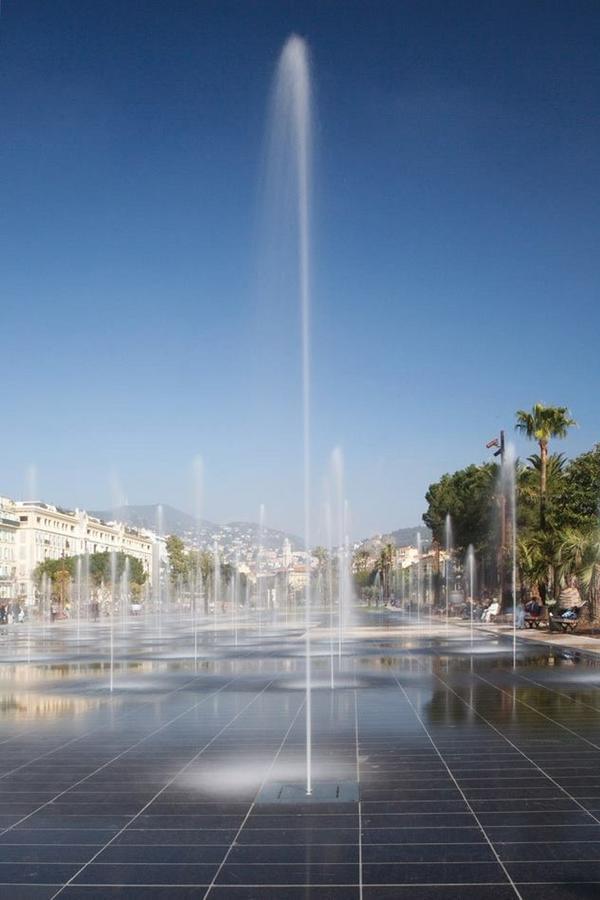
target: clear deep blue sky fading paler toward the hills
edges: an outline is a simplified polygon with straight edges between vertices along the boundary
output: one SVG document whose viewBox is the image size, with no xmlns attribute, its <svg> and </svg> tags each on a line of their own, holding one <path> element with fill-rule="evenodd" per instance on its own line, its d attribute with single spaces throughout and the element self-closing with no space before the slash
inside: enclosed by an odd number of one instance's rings
<svg viewBox="0 0 600 900">
<path fill-rule="evenodd" d="M 0 493 L 301 527 L 298 313 L 256 288 L 267 95 L 317 100 L 315 503 L 416 522 L 514 410 L 600 438 L 597 2 L 4 0 Z M 267 386 L 268 383 L 268 386 Z M 521 452 L 524 445 L 519 445 Z"/>
</svg>

